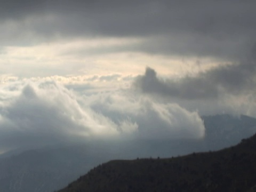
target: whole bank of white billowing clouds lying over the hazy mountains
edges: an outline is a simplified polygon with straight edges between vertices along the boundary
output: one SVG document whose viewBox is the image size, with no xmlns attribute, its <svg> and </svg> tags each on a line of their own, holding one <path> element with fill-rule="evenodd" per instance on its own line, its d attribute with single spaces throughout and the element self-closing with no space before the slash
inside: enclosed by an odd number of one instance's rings
<svg viewBox="0 0 256 192">
<path fill-rule="evenodd" d="M 131 90 L 81 95 L 44 81 L 5 84 L 0 91 L 1 150 L 91 139 L 204 136 L 196 112 Z"/>
</svg>

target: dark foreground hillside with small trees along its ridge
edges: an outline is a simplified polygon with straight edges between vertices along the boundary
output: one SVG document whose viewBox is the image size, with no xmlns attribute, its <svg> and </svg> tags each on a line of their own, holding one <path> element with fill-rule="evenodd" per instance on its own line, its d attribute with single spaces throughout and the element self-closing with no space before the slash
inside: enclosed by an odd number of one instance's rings
<svg viewBox="0 0 256 192">
<path fill-rule="evenodd" d="M 255 191 L 256 135 L 217 152 L 110 161 L 59 192 Z"/>
</svg>

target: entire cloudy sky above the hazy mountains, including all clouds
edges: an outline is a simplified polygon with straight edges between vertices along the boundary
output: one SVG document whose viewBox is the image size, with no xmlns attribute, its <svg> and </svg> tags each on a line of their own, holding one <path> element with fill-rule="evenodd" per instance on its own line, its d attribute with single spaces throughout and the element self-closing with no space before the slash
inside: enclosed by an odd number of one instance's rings
<svg viewBox="0 0 256 192">
<path fill-rule="evenodd" d="M 203 138 L 256 117 L 254 1 L 11 0 L 0 7 L 0 151 Z"/>
</svg>

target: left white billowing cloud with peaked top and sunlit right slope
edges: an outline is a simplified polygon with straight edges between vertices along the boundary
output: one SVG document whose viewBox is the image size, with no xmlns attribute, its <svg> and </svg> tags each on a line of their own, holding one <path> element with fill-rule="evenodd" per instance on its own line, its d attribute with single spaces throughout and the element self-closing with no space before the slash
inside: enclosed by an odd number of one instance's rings
<svg viewBox="0 0 256 192">
<path fill-rule="evenodd" d="M 17 89 L 21 90 L 20 95 L 1 109 L 1 131 L 6 132 L 1 134 L 1 145 L 45 145 L 45 142 L 117 134 L 110 119 L 82 108 L 76 95 L 63 86 L 42 83 Z M 38 138 L 36 143 L 35 138 Z M 12 140 L 14 143 L 9 143 Z"/>
</svg>

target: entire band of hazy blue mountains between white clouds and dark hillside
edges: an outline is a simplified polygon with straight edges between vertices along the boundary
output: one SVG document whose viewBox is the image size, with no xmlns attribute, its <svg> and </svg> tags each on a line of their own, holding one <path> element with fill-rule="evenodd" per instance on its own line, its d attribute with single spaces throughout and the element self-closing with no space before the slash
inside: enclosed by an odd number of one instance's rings
<svg viewBox="0 0 256 192">
<path fill-rule="evenodd" d="M 205 123 L 203 139 L 90 141 L 22 153 L 10 151 L 0 156 L 0 191 L 52 192 L 111 159 L 163 158 L 217 150 L 256 133 L 256 119 L 248 116 L 202 118 Z"/>
</svg>

